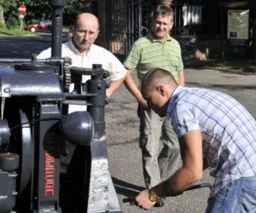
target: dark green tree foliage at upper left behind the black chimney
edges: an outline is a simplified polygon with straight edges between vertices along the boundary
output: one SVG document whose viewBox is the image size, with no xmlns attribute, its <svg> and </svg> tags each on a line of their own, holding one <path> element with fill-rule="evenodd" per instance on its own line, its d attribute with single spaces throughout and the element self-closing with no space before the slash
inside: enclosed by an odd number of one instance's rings
<svg viewBox="0 0 256 213">
<path fill-rule="evenodd" d="M 49 6 L 49 2 L 50 0 L 0 0 L 0 3 L 3 3 L 3 16 L 6 26 L 14 27 L 20 23 L 18 13 L 20 4 L 26 5 L 24 23 L 37 23 L 40 20 L 51 18 L 52 9 Z M 67 6 L 63 10 L 63 25 L 69 26 L 73 24 L 76 14 L 85 11 L 90 11 L 90 3 L 67 0 Z"/>
</svg>

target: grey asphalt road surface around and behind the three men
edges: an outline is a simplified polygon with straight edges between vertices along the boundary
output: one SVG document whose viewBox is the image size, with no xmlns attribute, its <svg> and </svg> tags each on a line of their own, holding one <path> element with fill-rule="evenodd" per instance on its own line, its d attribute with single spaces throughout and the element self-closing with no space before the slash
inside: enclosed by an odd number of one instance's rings
<svg viewBox="0 0 256 213">
<path fill-rule="evenodd" d="M 0 36 L 0 58 L 30 58 L 32 53 L 38 54 L 49 46 L 49 37 L 41 39 Z M 184 72 L 187 86 L 223 91 L 240 101 L 256 118 L 256 75 L 244 76 L 205 69 L 185 69 Z M 137 101 L 124 86 L 110 98 L 106 107 L 106 123 L 108 164 L 120 207 L 124 213 L 144 212 L 136 206 L 122 202 L 122 199 L 136 194 L 144 187 L 141 153 L 138 147 Z M 206 170 L 201 182 L 212 183 L 212 177 L 208 173 L 209 170 Z M 201 188 L 166 198 L 164 207 L 148 212 L 201 213 L 206 209 L 208 193 L 209 188 Z"/>
</svg>

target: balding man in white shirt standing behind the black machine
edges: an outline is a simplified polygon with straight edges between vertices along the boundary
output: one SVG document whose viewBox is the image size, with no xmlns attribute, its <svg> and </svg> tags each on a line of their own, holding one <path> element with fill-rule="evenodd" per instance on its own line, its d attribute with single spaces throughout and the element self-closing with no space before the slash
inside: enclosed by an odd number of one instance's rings
<svg viewBox="0 0 256 213">
<path fill-rule="evenodd" d="M 106 95 L 109 97 L 123 83 L 126 69 L 121 62 L 107 49 L 95 43 L 99 35 L 99 20 L 94 14 L 78 14 L 72 27 L 73 37 L 62 44 L 62 57 L 72 59 L 72 66 L 92 68 L 93 64 L 102 64 L 109 72 L 111 81 Z M 41 52 L 37 58 L 45 59 L 51 56 L 51 49 Z"/>
</svg>

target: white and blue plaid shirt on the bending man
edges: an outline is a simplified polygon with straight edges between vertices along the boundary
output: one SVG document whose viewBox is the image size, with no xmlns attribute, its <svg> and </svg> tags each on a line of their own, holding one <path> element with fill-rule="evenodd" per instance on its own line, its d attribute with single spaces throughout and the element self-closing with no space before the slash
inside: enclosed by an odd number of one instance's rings
<svg viewBox="0 0 256 213">
<path fill-rule="evenodd" d="M 177 137 L 201 130 L 203 156 L 215 177 L 211 196 L 230 181 L 256 176 L 256 121 L 232 97 L 178 86 L 166 116 Z"/>
</svg>

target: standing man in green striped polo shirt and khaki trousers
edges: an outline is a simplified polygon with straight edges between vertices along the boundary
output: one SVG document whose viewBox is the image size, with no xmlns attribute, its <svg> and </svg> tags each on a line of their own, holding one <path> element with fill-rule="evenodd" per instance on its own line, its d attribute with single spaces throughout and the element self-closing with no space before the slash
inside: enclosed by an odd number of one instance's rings
<svg viewBox="0 0 256 213">
<path fill-rule="evenodd" d="M 150 69 L 158 67 L 172 73 L 177 83 L 184 86 L 183 60 L 179 43 L 169 35 L 173 26 L 172 9 L 159 6 L 154 11 L 151 31 L 146 37 L 139 38 L 127 55 L 124 66 L 127 69 L 125 86 L 139 103 L 140 148 L 143 154 L 143 175 L 145 185 L 154 187 L 166 180 L 176 171 L 179 159 L 177 135 L 170 121 L 160 118 L 147 108 L 147 101 L 131 77 L 137 70 L 138 79 Z M 159 200 L 155 206 L 163 206 Z"/>
</svg>

